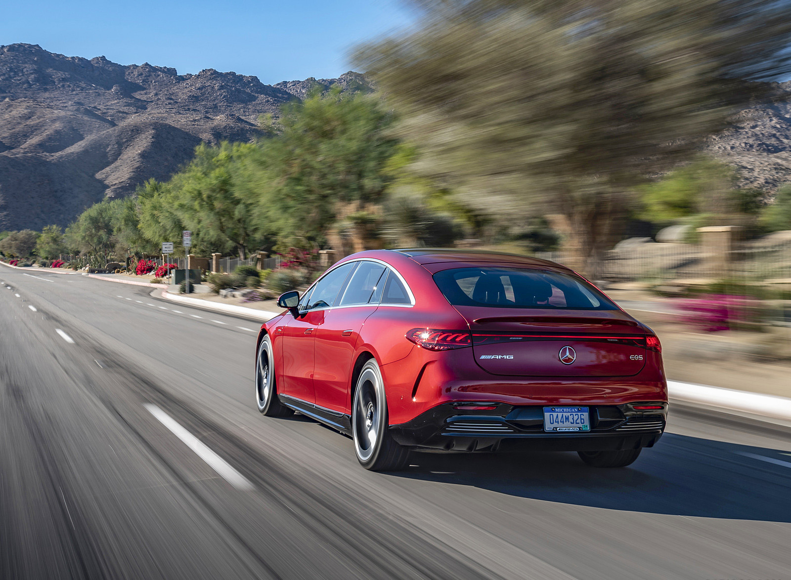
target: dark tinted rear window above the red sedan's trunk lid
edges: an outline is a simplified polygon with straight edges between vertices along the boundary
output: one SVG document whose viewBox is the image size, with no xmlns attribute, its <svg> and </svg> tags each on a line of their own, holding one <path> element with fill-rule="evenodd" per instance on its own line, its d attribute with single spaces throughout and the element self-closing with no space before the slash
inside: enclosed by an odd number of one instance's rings
<svg viewBox="0 0 791 580">
<path fill-rule="evenodd" d="M 434 274 L 454 306 L 617 310 L 585 281 L 567 274 L 527 268 L 457 268 Z"/>
</svg>

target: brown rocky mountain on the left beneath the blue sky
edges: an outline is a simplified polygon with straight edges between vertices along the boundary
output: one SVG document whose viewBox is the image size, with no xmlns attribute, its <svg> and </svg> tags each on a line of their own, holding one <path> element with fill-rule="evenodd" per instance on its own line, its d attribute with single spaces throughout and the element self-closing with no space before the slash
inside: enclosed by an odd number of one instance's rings
<svg viewBox="0 0 791 580">
<path fill-rule="evenodd" d="M 201 141 L 249 141 L 259 115 L 358 73 L 264 85 L 256 77 L 122 66 L 32 44 L 0 46 L 0 229 L 66 225 L 104 197 L 167 179 Z"/>
</svg>

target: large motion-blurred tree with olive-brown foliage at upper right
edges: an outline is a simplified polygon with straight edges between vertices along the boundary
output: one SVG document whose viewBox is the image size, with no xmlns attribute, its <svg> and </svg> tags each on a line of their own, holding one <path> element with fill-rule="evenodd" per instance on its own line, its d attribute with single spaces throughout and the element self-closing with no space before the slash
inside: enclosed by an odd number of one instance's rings
<svg viewBox="0 0 791 580">
<path fill-rule="evenodd" d="M 626 202 L 791 70 L 773 0 L 415 0 L 406 36 L 358 50 L 424 156 L 493 212 L 561 213 L 595 275 Z"/>
</svg>

